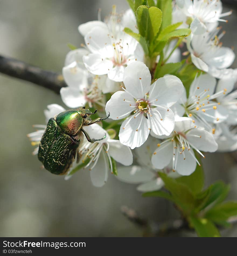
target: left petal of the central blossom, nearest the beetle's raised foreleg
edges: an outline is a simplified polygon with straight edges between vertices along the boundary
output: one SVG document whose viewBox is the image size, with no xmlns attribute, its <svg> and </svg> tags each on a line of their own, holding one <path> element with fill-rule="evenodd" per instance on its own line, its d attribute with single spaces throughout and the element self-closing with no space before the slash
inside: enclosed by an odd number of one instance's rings
<svg viewBox="0 0 237 256">
<path fill-rule="evenodd" d="M 133 97 L 124 91 L 115 92 L 106 103 L 106 115 L 109 115 L 110 113 L 110 118 L 114 120 L 123 119 L 130 115 L 134 109 L 134 107 L 131 107 L 129 104 L 131 104 L 131 106 L 135 106 Z"/>
</svg>

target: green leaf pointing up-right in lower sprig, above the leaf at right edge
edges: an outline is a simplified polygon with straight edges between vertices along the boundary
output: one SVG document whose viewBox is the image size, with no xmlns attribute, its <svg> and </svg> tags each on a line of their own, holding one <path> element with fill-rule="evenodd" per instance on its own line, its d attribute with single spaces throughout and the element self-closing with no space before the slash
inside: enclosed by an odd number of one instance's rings
<svg viewBox="0 0 237 256">
<path fill-rule="evenodd" d="M 198 209 L 205 209 L 207 206 L 217 205 L 221 203 L 229 193 L 230 186 L 226 185 L 223 181 L 217 181 L 214 184 L 210 185 L 207 196 L 202 200 Z"/>
</svg>

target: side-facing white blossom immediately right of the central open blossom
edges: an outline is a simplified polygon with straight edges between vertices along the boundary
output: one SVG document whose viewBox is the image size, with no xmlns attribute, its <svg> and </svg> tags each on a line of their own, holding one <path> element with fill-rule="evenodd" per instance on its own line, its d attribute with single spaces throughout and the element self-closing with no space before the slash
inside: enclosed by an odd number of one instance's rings
<svg viewBox="0 0 237 256">
<path fill-rule="evenodd" d="M 213 101 L 218 96 L 225 94 L 225 88 L 214 94 L 216 79 L 208 74 L 195 77 L 190 89 L 189 97 L 184 91 L 179 102 L 172 106 L 177 116 L 185 113 L 192 118 L 195 127 L 204 127 L 211 132 L 212 126 L 209 123 L 221 123 L 228 117 L 226 109 L 219 102 Z"/>
</svg>

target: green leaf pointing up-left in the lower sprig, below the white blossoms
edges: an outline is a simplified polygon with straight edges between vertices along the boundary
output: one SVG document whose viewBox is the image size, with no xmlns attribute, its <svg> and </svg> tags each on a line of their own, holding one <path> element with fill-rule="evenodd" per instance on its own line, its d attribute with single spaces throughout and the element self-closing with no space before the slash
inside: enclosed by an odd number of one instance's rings
<svg viewBox="0 0 237 256">
<path fill-rule="evenodd" d="M 159 176 L 165 183 L 166 189 L 168 189 L 172 194 L 176 204 L 179 205 L 184 212 L 187 213 L 194 209 L 195 199 L 190 189 L 186 185 L 168 177 L 163 172 L 159 172 Z"/>
</svg>

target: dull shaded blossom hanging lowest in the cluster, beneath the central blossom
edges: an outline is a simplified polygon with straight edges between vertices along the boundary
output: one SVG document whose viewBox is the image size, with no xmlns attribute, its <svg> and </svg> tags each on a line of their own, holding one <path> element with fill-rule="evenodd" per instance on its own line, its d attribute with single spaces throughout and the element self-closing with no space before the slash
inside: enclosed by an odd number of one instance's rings
<svg viewBox="0 0 237 256">
<path fill-rule="evenodd" d="M 152 154 L 156 148 L 156 144 L 159 142 L 160 140 L 149 136 L 147 141 L 141 147 L 135 148 L 134 150 L 136 160 L 140 166 L 133 165 L 129 167 L 119 167 L 116 178 L 123 182 L 140 184 L 137 187 L 137 190 L 141 192 L 161 189 L 164 182 L 159 177 L 158 170 L 155 169 L 151 163 Z M 165 168 L 163 172 L 165 172 L 169 177 L 178 177 L 177 172 L 172 171 L 172 167 Z"/>
</svg>

